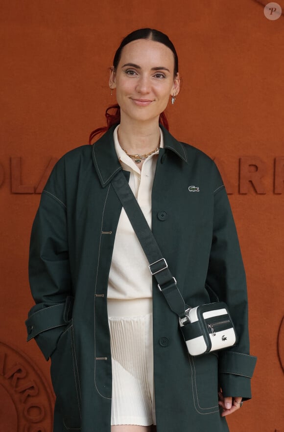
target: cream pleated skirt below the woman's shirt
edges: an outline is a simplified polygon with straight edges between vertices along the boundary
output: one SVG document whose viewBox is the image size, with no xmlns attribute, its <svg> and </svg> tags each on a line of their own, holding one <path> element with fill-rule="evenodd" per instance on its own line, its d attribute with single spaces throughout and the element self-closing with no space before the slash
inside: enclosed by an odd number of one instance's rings
<svg viewBox="0 0 284 432">
<path fill-rule="evenodd" d="M 113 374 L 112 425 L 156 424 L 152 303 L 151 299 L 142 300 L 146 301 L 130 300 L 131 308 L 128 300 L 108 302 Z"/>
</svg>

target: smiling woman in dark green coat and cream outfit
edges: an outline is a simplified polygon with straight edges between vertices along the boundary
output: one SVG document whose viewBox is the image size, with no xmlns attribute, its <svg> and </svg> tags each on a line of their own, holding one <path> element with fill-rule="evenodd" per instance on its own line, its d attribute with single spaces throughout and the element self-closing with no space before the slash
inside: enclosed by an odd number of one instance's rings
<svg viewBox="0 0 284 432">
<path fill-rule="evenodd" d="M 225 417 L 251 397 L 255 358 L 223 182 L 210 158 L 167 131 L 180 80 L 165 34 L 128 35 L 109 84 L 118 106 L 95 131 L 106 133 L 56 164 L 31 234 L 26 325 L 51 357 L 54 432 L 228 431 Z M 188 355 L 112 186 L 121 169 L 186 303 L 226 301 L 236 346 Z"/>
</svg>

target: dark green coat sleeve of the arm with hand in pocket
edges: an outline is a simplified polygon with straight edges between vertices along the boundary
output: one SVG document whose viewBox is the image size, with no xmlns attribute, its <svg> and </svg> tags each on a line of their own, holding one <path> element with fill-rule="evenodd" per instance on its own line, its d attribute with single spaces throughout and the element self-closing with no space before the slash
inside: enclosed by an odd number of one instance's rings
<svg viewBox="0 0 284 432">
<path fill-rule="evenodd" d="M 36 304 L 25 322 L 27 340 L 35 338 L 47 360 L 71 320 L 72 308 L 67 213 L 59 171 L 55 166 L 42 193 L 29 252 L 29 283 Z"/>
</svg>

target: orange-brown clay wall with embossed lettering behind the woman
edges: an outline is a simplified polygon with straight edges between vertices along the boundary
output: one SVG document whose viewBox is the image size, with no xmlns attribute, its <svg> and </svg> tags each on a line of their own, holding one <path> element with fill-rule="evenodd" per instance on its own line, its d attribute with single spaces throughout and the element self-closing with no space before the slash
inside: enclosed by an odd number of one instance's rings
<svg viewBox="0 0 284 432">
<path fill-rule="evenodd" d="M 258 364 L 253 399 L 229 417 L 230 430 L 284 432 L 284 16 L 267 18 L 265 4 L 1 0 L 1 432 L 52 431 L 49 364 L 25 341 L 30 229 L 54 162 L 104 124 L 122 37 L 146 26 L 179 53 L 170 131 L 216 158 L 247 271 Z"/>
</svg>

